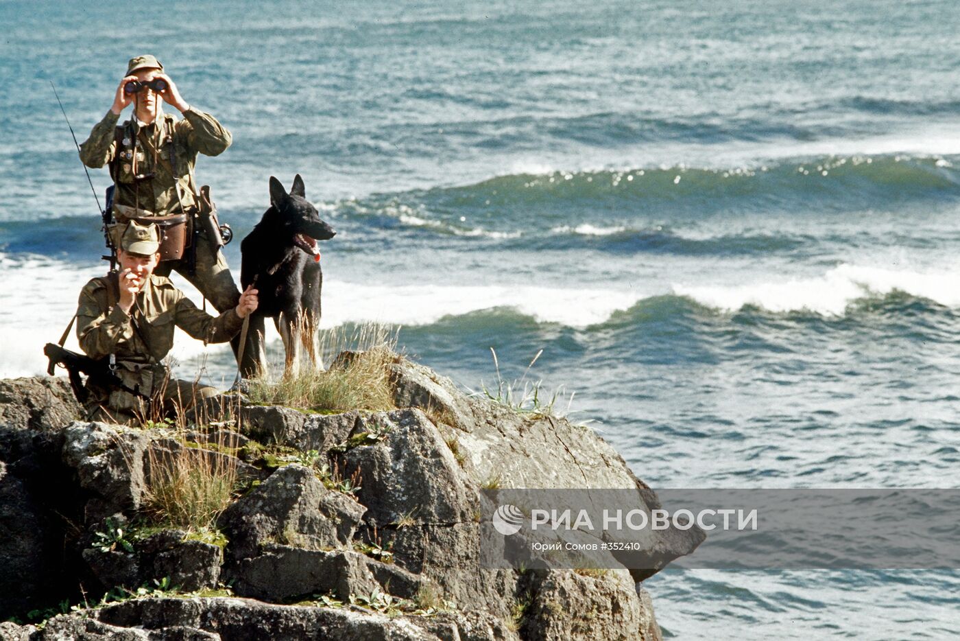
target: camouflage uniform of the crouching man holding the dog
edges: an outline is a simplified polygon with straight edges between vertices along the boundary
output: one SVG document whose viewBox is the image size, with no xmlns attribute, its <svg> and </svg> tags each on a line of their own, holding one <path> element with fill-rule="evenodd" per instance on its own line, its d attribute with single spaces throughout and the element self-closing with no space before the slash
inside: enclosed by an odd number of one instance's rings
<svg viewBox="0 0 960 641">
<path fill-rule="evenodd" d="M 110 295 L 108 287 L 113 288 Z M 142 396 L 88 382 L 88 420 L 156 419 L 177 407 L 192 407 L 195 397 L 217 393 L 212 387 L 169 379 L 160 360 L 173 347 L 175 326 L 204 343 L 228 341 L 243 325 L 236 311 L 228 309 L 214 318 L 198 309 L 170 279 L 156 274 L 136 295 L 130 315 L 116 304 L 118 300 L 115 276 L 87 283 L 77 308 L 77 337 L 89 357 L 114 355 L 117 376 Z M 148 398 L 153 399 L 153 407 L 148 407 Z"/>
</svg>

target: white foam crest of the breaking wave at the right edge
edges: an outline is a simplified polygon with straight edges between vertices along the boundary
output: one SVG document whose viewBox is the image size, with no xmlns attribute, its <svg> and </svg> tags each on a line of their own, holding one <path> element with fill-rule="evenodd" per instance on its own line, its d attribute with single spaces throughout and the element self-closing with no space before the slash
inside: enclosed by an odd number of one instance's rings
<svg viewBox="0 0 960 641">
<path fill-rule="evenodd" d="M 960 266 L 918 272 L 841 264 L 820 277 L 752 284 L 695 286 L 674 284 L 673 291 L 710 308 L 734 311 L 756 306 L 769 311 L 808 310 L 842 315 L 855 300 L 898 290 L 945 306 L 960 306 Z"/>
</svg>

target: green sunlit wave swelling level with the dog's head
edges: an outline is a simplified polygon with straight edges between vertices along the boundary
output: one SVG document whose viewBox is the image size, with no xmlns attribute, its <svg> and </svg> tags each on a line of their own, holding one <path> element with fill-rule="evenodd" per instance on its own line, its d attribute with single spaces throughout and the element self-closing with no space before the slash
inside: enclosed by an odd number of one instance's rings
<svg viewBox="0 0 960 641">
<path fill-rule="evenodd" d="M 713 213 L 821 215 L 900 210 L 960 198 L 951 159 L 851 156 L 728 168 L 686 165 L 509 174 L 472 184 L 374 194 L 338 203 L 337 215 L 383 227 L 509 239 L 616 236 L 637 219 L 683 225 Z"/>
</svg>

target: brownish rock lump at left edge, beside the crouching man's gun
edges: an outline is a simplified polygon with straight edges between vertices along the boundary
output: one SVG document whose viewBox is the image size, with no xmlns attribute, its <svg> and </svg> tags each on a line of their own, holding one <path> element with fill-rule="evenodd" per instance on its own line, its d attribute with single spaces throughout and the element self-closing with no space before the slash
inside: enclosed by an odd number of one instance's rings
<svg viewBox="0 0 960 641">
<path fill-rule="evenodd" d="M 63 377 L 0 381 L 0 427 L 60 430 L 80 418 L 82 408 Z"/>
</svg>

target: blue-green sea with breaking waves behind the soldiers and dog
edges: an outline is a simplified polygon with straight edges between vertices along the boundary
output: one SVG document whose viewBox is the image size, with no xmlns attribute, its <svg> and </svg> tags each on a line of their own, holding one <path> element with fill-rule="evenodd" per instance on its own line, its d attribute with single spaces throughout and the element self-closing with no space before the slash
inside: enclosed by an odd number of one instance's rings
<svg viewBox="0 0 960 641">
<path fill-rule="evenodd" d="M 153 52 L 234 136 L 246 234 L 300 173 L 324 326 L 479 389 L 563 385 L 654 487 L 955 487 L 950 2 L 0 3 L 0 375 L 105 268 L 81 140 Z M 96 191 L 108 185 L 94 171 Z M 228 247 L 239 265 L 239 243 Z M 232 380 L 180 337 L 180 372 Z M 276 345 L 273 346 L 276 354 Z M 673 638 L 953 638 L 956 572 L 667 570 Z"/>
</svg>

